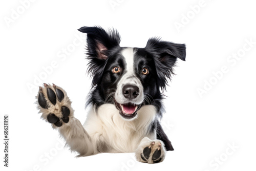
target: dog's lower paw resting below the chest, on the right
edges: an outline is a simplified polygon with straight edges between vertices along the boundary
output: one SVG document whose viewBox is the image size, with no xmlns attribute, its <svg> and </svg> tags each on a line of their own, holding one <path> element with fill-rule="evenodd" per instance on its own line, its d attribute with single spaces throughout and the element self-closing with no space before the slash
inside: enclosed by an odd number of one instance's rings
<svg viewBox="0 0 256 171">
<path fill-rule="evenodd" d="M 165 158 L 164 143 L 161 140 L 143 138 L 136 149 L 135 157 L 143 163 L 159 163 Z"/>
</svg>

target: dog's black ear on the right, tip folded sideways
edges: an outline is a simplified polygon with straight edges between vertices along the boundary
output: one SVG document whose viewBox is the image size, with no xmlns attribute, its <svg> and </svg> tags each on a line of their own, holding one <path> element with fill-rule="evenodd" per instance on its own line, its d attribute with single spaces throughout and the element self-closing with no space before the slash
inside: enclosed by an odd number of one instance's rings
<svg viewBox="0 0 256 171">
<path fill-rule="evenodd" d="M 171 79 L 172 74 L 174 74 L 173 67 L 175 67 L 177 58 L 185 61 L 186 46 L 185 44 L 162 41 L 160 38 L 150 38 L 145 50 L 155 61 L 158 85 L 162 90 L 165 90 L 168 85 L 167 79 Z"/>
</svg>

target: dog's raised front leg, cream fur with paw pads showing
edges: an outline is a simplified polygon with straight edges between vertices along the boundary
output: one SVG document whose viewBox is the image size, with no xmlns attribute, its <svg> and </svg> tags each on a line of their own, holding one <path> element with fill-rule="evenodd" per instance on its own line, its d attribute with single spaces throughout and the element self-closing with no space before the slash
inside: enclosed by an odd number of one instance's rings
<svg viewBox="0 0 256 171">
<path fill-rule="evenodd" d="M 57 129 L 66 140 L 71 151 L 79 156 L 96 154 L 96 147 L 78 119 L 74 117 L 71 101 L 67 93 L 60 87 L 44 84 L 37 95 L 41 118 L 50 122 L 53 129 Z"/>
</svg>

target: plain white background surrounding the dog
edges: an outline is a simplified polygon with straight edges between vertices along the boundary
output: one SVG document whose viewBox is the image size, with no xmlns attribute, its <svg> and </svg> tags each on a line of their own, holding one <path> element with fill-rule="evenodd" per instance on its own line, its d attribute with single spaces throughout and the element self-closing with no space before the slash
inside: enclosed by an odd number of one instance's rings
<svg viewBox="0 0 256 171">
<path fill-rule="evenodd" d="M 200 4 L 199 0 L 38 0 L 22 5 L 24 1 L 2 1 L 0 5 L 2 140 L 4 115 L 10 119 L 9 167 L 3 166 L 1 143 L 1 169 L 256 169 L 256 11 L 252 1 L 205 0 L 197 13 L 191 6 Z M 186 15 L 190 19 L 184 19 Z M 175 22 L 184 25 L 177 29 Z M 91 79 L 86 75 L 86 41 L 76 41 L 76 37 L 82 35 L 78 28 L 95 25 L 117 29 L 121 46 L 144 47 L 153 36 L 186 44 L 186 61 L 178 61 L 177 75 L 165 93 L 168 97 L 162 124 L 175 151 L 168 152 L 162 163 L 139 163 L 134 154 L 75 158 L 75 153 L 62 149 L 57 131 L 40 119 L 34 104 L 38 91 L 34 81 L 40 75 L 45 76 L 41 83 L 64 88 L 73 101 L 75 116 L 81 122 L 86 119 L 84 104 Z M 254 45 L 250 47 L 246 39 Z M 74 46 L 73 41 L 80 45 Z M 64 59 L 63 49 L 67 48 L 72 52 L 68 51 Z M 237 53 L 242 56 L 240 60 L 228 62 L 229 56 Z M 44 75 L 43 67 L 53 61 L 57 67 Z M 217 79 L 213 72 L 219 73 L 223 66 L 228 72 Z M 200 97 L 198 89 L 204 89 L 205 81 L 214 85 L 208 85 L 207 93 Z"/>
</svg>

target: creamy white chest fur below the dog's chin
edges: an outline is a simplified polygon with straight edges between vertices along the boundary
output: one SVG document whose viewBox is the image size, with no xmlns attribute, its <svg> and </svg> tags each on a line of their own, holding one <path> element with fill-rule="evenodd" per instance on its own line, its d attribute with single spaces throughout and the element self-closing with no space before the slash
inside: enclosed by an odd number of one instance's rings
<svg viewBox="0 0 256 171">
<path fill-rule="evenodd" d="M 92 138 L 93 145 L 104 143 L 109 153 L 135 152 L 144 138 L 156 138 L 156 133 L 148 133 L 148 126 L 155 120 L 156 108 L 145 105 L 133 120 L 125 120 L 119 115 L 114 104 L 103 104 L 97 113 L 93 108 L 83 127 Z"/>
</svg>

